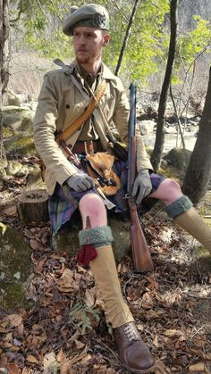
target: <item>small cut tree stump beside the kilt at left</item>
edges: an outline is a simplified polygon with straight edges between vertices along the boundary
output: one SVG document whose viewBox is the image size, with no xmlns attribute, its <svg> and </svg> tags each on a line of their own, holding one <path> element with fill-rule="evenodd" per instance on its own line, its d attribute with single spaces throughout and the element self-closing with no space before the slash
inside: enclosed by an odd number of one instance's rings
<svg viewBox="0 0 211 374">
<path fill-rule="evenodd" d="M 47 222 L 48 195 L 45 189 L 28 190 L 21 193 L 17 199 L 17 212 L 21 223 Z"/>
</svg>

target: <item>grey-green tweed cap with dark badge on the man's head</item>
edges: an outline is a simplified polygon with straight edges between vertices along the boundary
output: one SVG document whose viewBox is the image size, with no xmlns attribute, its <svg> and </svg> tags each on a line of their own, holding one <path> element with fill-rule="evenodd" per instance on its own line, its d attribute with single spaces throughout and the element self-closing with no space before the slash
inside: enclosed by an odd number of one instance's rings
<svg viewBox="0 0 211 374">
<path fill-rule="evenodd" d="M 108 12 L 99 4 L 72 6 L 72 13 L 63 22 L 63 33 L 72 36 L 73 29 L 78 26 L 109 29 Z"/>
</svg>

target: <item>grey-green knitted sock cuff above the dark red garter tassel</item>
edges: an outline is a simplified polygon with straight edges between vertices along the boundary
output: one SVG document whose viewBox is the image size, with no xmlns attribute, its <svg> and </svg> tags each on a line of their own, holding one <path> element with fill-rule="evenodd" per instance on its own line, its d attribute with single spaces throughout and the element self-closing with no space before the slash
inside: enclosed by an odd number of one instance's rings
<svg viewBox="0 0 211 374">
<path fill-rule="evenodd" d="M 79 232 L 80 245 L 95 245 L 100 247 L 109 245 L 114 241 L 112 230 L 109 226 L 97 226 L 93 229 L 83 229 Z"/>
</svg>

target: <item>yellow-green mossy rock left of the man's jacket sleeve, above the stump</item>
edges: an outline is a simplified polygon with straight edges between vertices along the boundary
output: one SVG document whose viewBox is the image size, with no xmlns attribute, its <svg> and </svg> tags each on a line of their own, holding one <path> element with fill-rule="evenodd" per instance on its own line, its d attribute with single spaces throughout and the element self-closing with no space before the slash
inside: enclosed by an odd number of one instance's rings
<svg viewBox="0 0 211 374">
<path fill-rule="evenodd" d="M 32 155 L 37 154 L 32 134 L 21 132 L 13 138 L 5 140 L 6 153 L 10 155 Z"/>
</svg>

